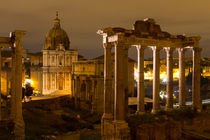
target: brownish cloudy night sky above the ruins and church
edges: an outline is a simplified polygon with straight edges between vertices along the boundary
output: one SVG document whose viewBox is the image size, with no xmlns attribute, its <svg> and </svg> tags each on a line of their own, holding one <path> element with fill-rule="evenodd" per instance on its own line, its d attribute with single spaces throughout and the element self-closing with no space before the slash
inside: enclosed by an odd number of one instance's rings
<svg viewBox="0 0 210 140">
<path fill-rule="evenodd" d="M 86 58 L 103 54 L 98 29 L 131 29 L 136 20 L 147 17 L 154 18 L 169 33 L 200 35 L 202 57 L 210 57 L 210 0 L 2 0 L 0 36 L 8 36 L 16 29 L 26 30 L 23 47 L 29 52 L 41 51 L 56 11 L 71 48 Z M 132 58 L 136 53 L 135 48 L 129 51 Z M 146 50 L 146 57 L 151 54 Z"/>
</svg>

